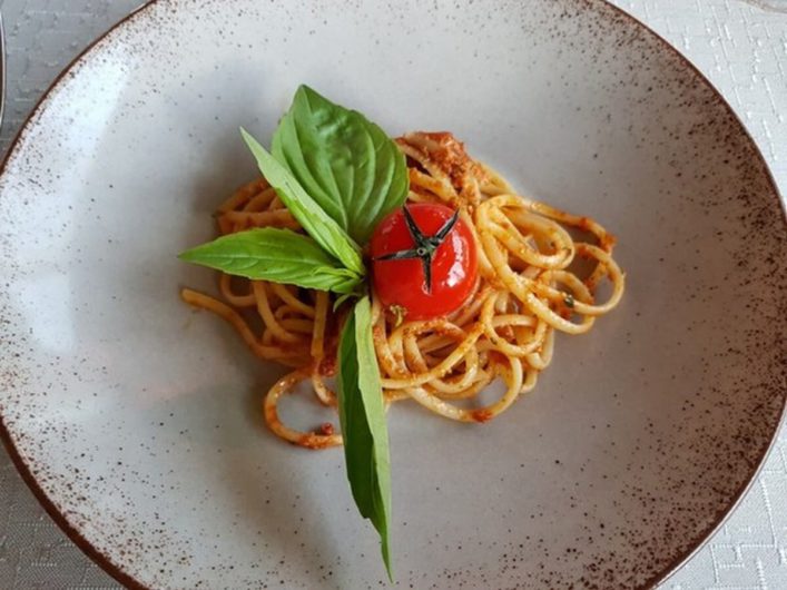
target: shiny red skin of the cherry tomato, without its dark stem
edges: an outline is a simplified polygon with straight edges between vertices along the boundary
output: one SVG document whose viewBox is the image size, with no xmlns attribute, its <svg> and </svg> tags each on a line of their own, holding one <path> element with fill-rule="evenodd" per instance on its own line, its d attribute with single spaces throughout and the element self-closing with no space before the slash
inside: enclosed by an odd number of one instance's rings
<svg viewBox="0 0 787 590">
<path fill-rule="evenodd" d="M 430 203 L 407 205 L 407 210 L 425 236 L 434 236 L 454 210 Z M 460 218 L 432 256 L 432 289 L 427 292 L 420 258 L 378 260 L 381 256 L 411 249 L 415 242 L 402 209 L 385 217 L 372 234 L 372 281 L 381 303 L 401 307 L 406 319 L 427 319 L 459 309 L 478 281 L 475 240 Z"/>
</svg>

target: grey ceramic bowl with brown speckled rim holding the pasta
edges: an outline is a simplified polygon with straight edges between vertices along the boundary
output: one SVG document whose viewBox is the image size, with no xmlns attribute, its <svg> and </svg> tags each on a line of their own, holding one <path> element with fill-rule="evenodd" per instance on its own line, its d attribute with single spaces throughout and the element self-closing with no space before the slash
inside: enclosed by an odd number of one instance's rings
<svg viewBox="0 0 787 590">
<path fill-rule="evenodd" d="M 254 174 L 238 126 L 269 137 L 301 82 L 454 131 L 628 272 L 500 420 L 391 413 L 397 587 L 665 577 L 779 422 L 787 233 L 724 100 L 600 0 L 161 0 L 82 56 L 0 177 L 2 435 L 49 512 L 132 588 L 384 586 L 341 451 L 270 435 L 279 370 L 177 296 L 213 287 L 175 254 Z"/>
</svg>

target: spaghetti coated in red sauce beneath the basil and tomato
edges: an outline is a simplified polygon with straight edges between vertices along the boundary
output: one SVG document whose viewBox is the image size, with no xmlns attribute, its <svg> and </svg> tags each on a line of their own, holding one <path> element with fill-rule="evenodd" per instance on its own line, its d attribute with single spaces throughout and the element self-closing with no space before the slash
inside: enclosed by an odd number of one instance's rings
<svg viewBox="0 0 787 590">
<path fill-rule="evenodd" d="M 414 132 L 396 142 L 407 158 L 409 201 L 441 203 L 460 212 L 474 234 L 480 279 L 468 304 L 446 317 L 402 321 L 373 299 L 383 394 L 386 403 L 415 400 L 452 420 L 486 422 L 535 386 L 552 360 L 555 331 L 583 334 L 618 304 L 624 277 L 612 258 L 614 238 L 588 217 L 517 195 L 499 174 L 471 159 L 451 134 Z M 238 189 L 216 217 L 223 235 L 252 227 L 299 228 L 262 178 Z M 599 302 L 602 283 L 611 288 Z M 265 396 L 270 430 L 309 449 L 342 444 L 331 424 L 316 432 L 285 425 L 277 404 L 311 380 L 319 402 L 336 406 L 325 380 L 336 372 L 343 307 L 334 312 L 326 292 L 226 274 L 219 277 L 219 292 L 215 298 L 185 288 L 181 297 L 227 321 L 259 358 L 293 367 Z M 505 392 L 495 402 L 483 407 L 461 402 L 499 377 Z"/>
</svg>

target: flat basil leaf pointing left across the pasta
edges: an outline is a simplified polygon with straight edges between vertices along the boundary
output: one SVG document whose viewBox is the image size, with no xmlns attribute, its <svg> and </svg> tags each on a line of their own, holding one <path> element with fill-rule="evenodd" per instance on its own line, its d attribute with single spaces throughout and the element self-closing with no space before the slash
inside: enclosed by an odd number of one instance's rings
<svg viewBox="0 0 787 590">
<path fill-rule="evenodd" d="M 363 281 L 312 238 L 276 227 L 223 236 L 184 252 L 179 258 L 230 275 L 342 294 L 354 293 Z"/>
</svg>

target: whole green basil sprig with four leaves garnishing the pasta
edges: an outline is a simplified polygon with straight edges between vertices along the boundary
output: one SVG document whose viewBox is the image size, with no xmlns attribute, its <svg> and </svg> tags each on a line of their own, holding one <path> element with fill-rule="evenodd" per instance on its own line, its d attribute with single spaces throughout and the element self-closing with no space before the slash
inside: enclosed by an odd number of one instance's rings
<svg viewBox="0 0 787 590">
<path fill-rule="evenodd" d="M 269 154 L 244 140 L 282 203 L 308 234 L 258 228 L 186 250 L 186 262 L 230 275 L 360 297 L 338 346 L 338 414 L 350 488 L 361 514 L 380 533 L 388 577 L 391 462 L 380 368 L 372 337 L 367 272 L 361 246 L 409 191 L 404 156 L 363 115 L 298 88 Z"/>
</svg>

